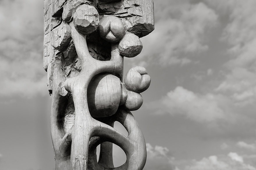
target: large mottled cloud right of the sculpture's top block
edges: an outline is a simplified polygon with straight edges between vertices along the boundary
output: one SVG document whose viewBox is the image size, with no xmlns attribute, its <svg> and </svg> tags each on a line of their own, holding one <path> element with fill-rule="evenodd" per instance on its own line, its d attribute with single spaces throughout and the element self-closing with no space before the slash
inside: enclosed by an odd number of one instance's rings
<svg viewBox="0 0 256 170">
<path fill-rule="evenodd" d="M 144 66 L 150 63 L 161 66 L 189 64 L 192 62 L 189 55 L 208 49 L 205 33 L 218 23 L 214 10 L 204 3 L 178 3 L 166 7 L 160 16 L 155 30 L 141 39 L 144 48 L 134 63 Z"/>
</svg>

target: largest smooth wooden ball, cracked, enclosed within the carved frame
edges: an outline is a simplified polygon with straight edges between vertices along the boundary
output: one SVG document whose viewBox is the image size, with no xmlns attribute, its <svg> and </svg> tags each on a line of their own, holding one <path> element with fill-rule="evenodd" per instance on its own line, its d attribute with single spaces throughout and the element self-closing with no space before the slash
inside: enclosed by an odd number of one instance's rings
<svg viewBox="0 0 256 170">
<path fill-rule="evenodd" d="M 120 79 L 107 73 L 94 76 L 88 86 L 87 97 L 92 117 L 115 114 L 121 99 Z"/>
</svg>

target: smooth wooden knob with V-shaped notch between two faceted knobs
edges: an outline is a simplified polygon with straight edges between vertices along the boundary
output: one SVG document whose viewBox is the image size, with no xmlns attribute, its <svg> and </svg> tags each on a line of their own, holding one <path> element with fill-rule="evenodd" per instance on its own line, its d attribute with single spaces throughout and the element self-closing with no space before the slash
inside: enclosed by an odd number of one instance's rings
<svg viewBox="0 0 256 170">
<path fill-rule="evenodd" d="M 99 35 L 111 43 L 116 43 L 125 35 L 122 20 L 115 16 L 103 17 L 99 22 Z"/>
</svg>

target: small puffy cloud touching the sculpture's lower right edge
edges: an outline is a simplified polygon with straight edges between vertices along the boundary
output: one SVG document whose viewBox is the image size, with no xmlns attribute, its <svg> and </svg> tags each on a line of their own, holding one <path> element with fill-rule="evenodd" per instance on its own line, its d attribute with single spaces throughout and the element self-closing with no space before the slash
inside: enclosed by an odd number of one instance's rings
<svg viewBox="0 0 256 170">
<path fill-rule="evenodd" d="M 174 158 L 170 155 L 166 147 L 155 146 L 147 143 L 147 162 L 144 167 L 145 170 L 178 170 L 173 165 Z"/>
</svg>

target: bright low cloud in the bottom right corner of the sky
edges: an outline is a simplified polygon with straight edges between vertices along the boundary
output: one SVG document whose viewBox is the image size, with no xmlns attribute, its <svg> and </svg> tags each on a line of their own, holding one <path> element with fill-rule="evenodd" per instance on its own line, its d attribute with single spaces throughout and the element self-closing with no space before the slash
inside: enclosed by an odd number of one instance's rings
<svg viewBox="0 0 256 170">
<path fill-rule="evenodd" d="M 243 157 L 230 152 L 228 155 L 209 156 L 200 161 L 193 160 L 184 170 L 256 170 L 243 161 Z"/>
</svg>

